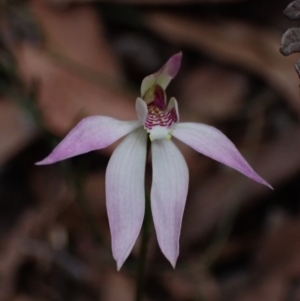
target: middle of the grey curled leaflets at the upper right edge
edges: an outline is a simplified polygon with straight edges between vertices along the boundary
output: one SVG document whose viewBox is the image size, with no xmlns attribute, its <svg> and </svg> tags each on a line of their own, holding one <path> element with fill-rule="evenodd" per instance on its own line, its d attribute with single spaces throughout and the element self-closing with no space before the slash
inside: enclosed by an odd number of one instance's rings
<svg viewBox="0 0 300 301">
<path fill-rule="evenodd" d="M 300 52 L 300 28 L 289 28 L 281 38 L 280 52 L 290 55 Z"/>
</svg>

